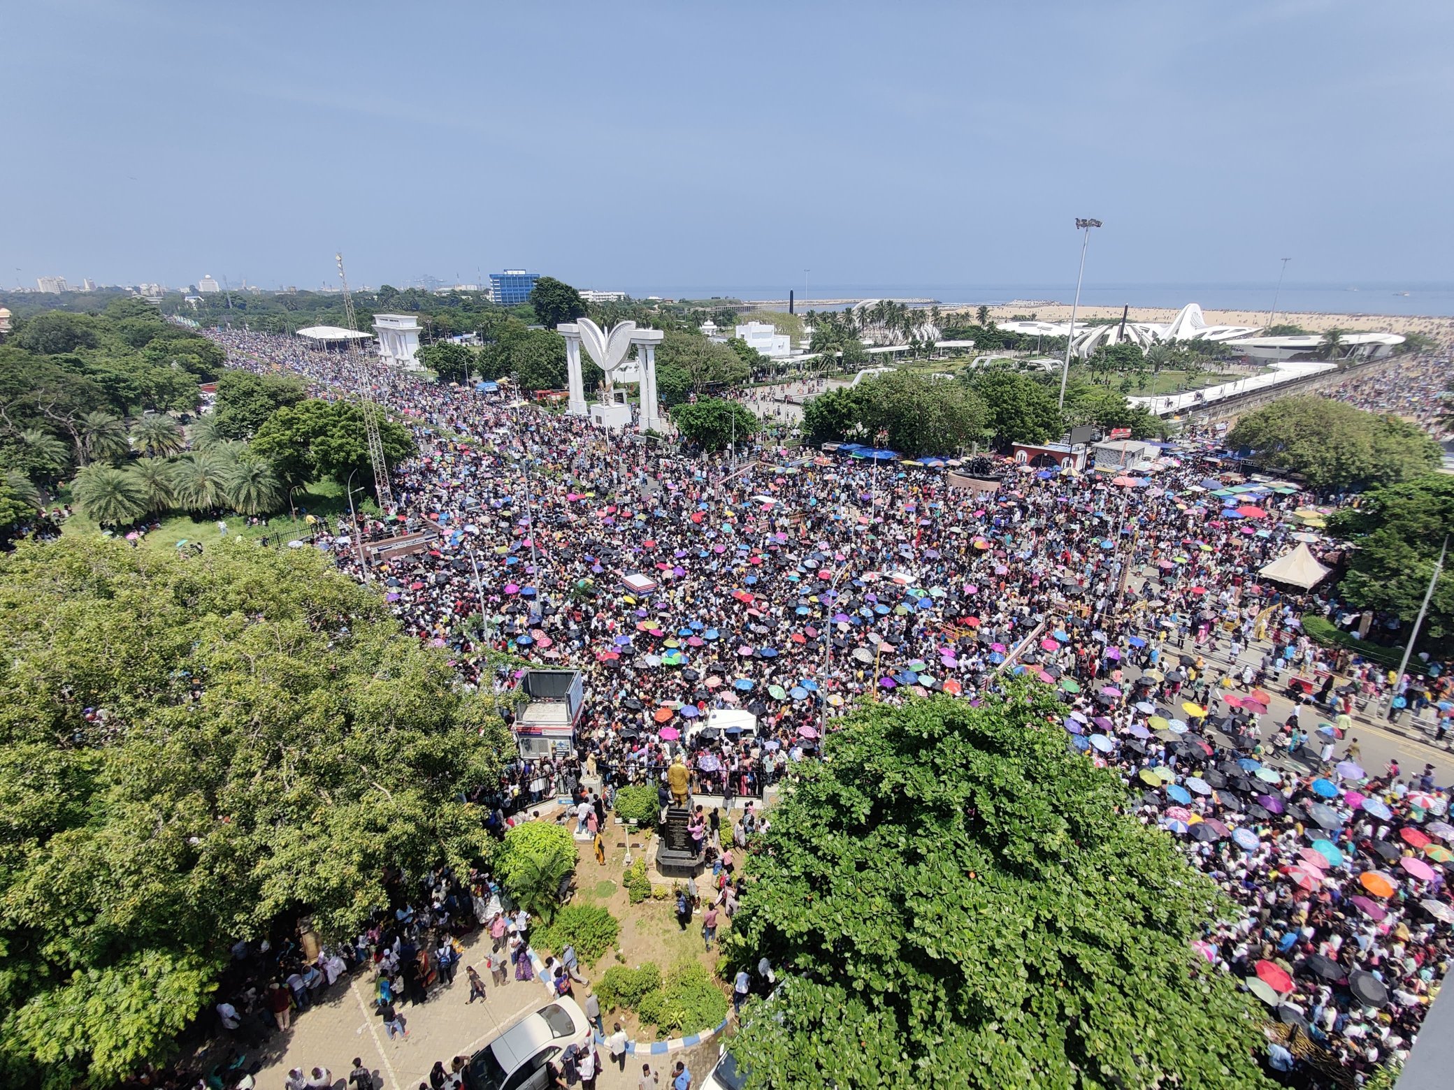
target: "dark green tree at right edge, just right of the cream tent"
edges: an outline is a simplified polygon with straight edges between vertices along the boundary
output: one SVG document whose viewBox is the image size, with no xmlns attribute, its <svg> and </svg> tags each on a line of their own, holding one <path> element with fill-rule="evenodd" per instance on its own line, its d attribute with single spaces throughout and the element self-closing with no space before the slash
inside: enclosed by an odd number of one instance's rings
<svg viewBox="0 0 1454 1090">
<path fill-rule="evenodd" d="M 1412 622 L 1450 528 L 1454 478 L 1442 474 L 1374 488 L 1358 507 L 1335 512 L 1329 532 L 1354 545 L 1339 596 L 1358 609 Z M 1444 644 L 1454 637 L 1454 578 L 1439 578 L 1421 631 Z"/>
</svg>

